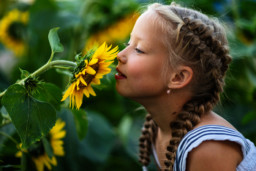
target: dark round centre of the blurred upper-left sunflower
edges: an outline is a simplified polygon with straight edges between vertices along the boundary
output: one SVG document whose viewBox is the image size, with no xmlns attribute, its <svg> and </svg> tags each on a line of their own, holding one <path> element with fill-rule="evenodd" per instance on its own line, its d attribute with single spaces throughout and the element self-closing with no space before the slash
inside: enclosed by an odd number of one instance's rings
<svg viewBox="0 0 256 171">
<path fill-rule="evenodd" d="M 22 34 L 23 34 L 23 28 L 24 28 L 23 23 L 17 23 L 17 22 L 12 23 L 8 28 L 8 34 L 10 35 L 10 37 L 12 37 L 12 39 L 21 40 Z"/>
</svg>

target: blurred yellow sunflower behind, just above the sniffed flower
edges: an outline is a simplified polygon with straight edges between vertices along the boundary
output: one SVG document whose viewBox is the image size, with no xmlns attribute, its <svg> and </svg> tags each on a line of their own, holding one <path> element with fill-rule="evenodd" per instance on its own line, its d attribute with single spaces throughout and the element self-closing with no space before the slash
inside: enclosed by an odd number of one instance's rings
<svg viewBox="0 0 256 171">
<path fill-rule="evenodd" d="M 87 40 L 86 47 L 84 47 L 83 49 L 83 53 L 86 53 L 87 47 L 91 47 L 92 45 L 94 45 L 94 42 L 123 42 L 124 39 L 129 37 L 129 34 L 131 34 L 132 28 L 134 27 L 138 17 L 138 14 L 127 15 L 125 18 L 118 20 L 112 26 L 105 28 L 104 31 L 99 31 L 98 33 L 92 35 Z"/>
</svg>

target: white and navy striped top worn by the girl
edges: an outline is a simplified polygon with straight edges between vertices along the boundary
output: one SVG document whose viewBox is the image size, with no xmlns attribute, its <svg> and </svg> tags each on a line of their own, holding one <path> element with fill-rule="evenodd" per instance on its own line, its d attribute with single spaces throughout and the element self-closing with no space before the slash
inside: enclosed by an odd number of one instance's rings
<svg viewBox="0 0 256 171">
<path fill-rule="evenodd" d="M 189 151 L 200 145 L 205 140 L 230 140 L 241 145 L 243 160 L 236 167 L 237 171 L 256 171 L 256 148 L 255 145 L 247 140 L 240 132 L 234 129 L 219 125 L 200 126 L 188 132 L 178 145 L 174 171 L 186 170 L 186 159 Z M 155 149 L 153 148 L 154 158 L 159 165 Z"/>
</svg>

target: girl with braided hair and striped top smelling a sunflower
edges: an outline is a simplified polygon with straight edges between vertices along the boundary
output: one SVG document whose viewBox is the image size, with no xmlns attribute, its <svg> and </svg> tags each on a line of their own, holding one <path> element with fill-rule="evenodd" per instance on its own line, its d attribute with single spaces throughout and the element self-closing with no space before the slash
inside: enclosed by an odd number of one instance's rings
<svg viewBox="0 0 256 171">
<path fill-rule="evenodd" d="M 225 28 L 192 9 L 151 4 L 118 53 L 116 90 L 148 114 L 140 163 L 159 170 L 256 170 L 255 145 L 212 108 L 231 56 Z"/>
</svg>

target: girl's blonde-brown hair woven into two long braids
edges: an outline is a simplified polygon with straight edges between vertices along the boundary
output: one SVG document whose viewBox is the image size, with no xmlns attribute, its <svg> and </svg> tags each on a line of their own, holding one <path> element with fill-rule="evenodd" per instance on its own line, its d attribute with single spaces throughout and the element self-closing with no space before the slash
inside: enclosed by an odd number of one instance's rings
<svg viewBox="0 0 256 171">
<path fill-rule="evenodd" d="M 162 41 L 170 53 L 163 70 L 184 64 L 190 66 L 195 75 L 191 88 L 192 99 L 184 104 L 176 120 L 170 123 L 172 138 L 167 145 L 166 168 L 163 169 L 172 171 L 176 151 L 183 137 L 219 102 L 219 94 L 223 92 L 224 78 L 232 58 L 225 28 L 217 18 L 208 18 L 201 12 L 179 7 L 176 3 L 168 6 L 151 4 L 147 11 L 154 13 L 154 22 L 162 29 Z M 148 124 L 148 119 L 145 124 Z M 151 130 L 150 127 L 147 129 Z M 141 144 L 150 147 L 148 145 L 154 140 L 154 134 L 146 138 L 143 138 L 144 135 L 142 133 L 140 137 L 142 152 L 139 161 L 143 166 L 147 166 L 150 161 L 150 148 L 146 151 Z"/>
</svg>

